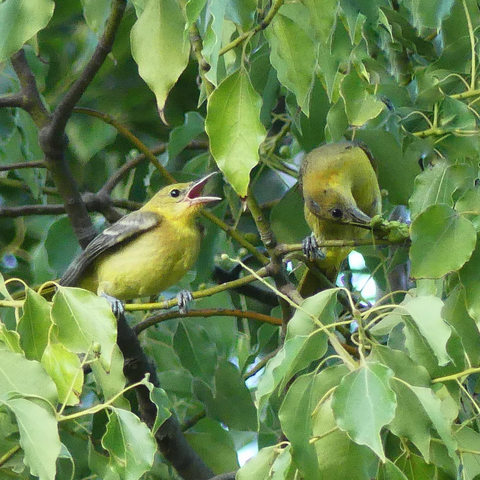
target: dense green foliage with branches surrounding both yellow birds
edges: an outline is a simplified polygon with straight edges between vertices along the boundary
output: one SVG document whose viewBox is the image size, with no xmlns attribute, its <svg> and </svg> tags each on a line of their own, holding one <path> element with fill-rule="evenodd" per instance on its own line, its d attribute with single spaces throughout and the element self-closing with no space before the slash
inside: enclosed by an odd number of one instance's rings
<svg viewBox="0 0 480 480">
<path fill-rule="evenodd" d="M 207 479 L 252 443 L 239 480 L 479 476 L 479 26 L 476 0 L 0 2 L 1 478 Z M 342 139 L 400 223 L 302 302 L 298 165 Z M 215 169 L 195 272 L 126 307 L 140 344 L 39 294 Z"/>
</svg>

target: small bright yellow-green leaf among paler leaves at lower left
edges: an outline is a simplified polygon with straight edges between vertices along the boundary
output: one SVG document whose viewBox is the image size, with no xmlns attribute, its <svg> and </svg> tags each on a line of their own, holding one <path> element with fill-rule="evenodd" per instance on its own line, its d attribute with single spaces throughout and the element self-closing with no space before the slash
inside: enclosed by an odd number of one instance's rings
<svg viewBox="0 0 480 480">
<path fill-rule="evenodd" d="M 45 348 L 42 365 L 57 386 L 59 402 L 78 405 L 83 387 L 83 370 L 78 356 L 63 345 L 53 343 Z"/>
</svg>

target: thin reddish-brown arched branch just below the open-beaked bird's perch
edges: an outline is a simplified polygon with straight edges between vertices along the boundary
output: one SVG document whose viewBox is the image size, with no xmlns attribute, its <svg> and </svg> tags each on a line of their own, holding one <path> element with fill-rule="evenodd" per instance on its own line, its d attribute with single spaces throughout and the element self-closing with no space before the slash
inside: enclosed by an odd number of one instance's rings
<svg viewBox="0 0 480 480">
<path fill-rule="evenodd" d="M 248 318 L 250 320 L 258 320 L 259 322 L 270 323 L 271 325 L 281 325 L 282 321 L 279 318 L 272 317 L 270 315 L 264 315 L 263 313 L 252 312 L 249 310 L 237 310 L 229 308 L 203 308 L 199 310 L 189 310 L 186 313 L 166 312 L 152 315 L 151 317 L 143 320 L 143 322 L 137 323 L 133 329 L 138 335 L 152 325 L 165 322 L 167 320 L 177 318 L 192 318 L 192 317 L 238 317 Z"/>
</svg>

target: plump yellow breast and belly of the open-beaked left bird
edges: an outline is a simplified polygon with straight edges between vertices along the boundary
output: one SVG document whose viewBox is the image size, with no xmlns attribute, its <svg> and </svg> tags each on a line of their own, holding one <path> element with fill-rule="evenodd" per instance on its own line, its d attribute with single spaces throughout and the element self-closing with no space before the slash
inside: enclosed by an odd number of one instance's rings
<svg viewBox="0 0 480 480">
<path fill-rule="evenodd" d="M 200 250 L 195 222 L 160 225 L 96 259 L 80 286 L 120 300 L 158 295 L 192 268 Z"/>
</svg>

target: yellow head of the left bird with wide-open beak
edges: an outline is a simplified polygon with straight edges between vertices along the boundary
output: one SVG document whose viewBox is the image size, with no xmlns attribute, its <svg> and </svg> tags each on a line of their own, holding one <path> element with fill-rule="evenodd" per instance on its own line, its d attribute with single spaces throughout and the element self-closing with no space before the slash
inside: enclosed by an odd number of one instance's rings
<svg viewBox="0 0 480 480">
<path fill-rule="evenodd" d="M 210 173 L 195 182 L 168 185 L 156 193 L 148 204 L 172 217 L 195 216 L 205 204 L 221 200 L 220 197 L 202 195 L 208 180 L 216 173 Z"/>
</svg>

